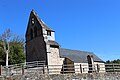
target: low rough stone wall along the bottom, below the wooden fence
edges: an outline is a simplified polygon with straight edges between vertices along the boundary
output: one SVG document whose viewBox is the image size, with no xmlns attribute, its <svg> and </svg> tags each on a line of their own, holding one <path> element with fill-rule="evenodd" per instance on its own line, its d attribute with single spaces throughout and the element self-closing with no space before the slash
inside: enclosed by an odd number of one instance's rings
<svg viewBox="0 0 120 80">
<path fill-rule="evenodd" d="M 120 73 L 92 74 L 27 74 L 11 77 L 0 77 L 0 80 L 120 80 Z"/>
</svg>

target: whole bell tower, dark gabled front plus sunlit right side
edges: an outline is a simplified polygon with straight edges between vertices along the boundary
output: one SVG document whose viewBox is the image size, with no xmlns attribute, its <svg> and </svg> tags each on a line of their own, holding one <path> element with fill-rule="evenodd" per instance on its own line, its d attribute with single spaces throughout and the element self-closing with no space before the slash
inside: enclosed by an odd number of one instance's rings
<svg viewBox="0 0 120 80">
<path fill-rule="evenodd" d="M 26 31 L 26 61 L 45 61 L 47 65 L 62 64 L 55 31 L 32 10 Z"/>
</svg>

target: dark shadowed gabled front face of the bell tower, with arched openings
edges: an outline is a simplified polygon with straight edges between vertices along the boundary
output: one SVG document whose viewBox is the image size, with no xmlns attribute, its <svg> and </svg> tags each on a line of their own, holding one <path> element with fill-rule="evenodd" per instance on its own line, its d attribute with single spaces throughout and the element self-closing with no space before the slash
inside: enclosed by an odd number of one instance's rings
<svg viewBox="0 0 120 80">
<path fill-rule="evenodd" d="M 46 42 L 43 36 L 42 21 L 34 10 L 31 11 L 26 30 L 26 61 L 45 61 L 47 63 Z"/>
</svg>

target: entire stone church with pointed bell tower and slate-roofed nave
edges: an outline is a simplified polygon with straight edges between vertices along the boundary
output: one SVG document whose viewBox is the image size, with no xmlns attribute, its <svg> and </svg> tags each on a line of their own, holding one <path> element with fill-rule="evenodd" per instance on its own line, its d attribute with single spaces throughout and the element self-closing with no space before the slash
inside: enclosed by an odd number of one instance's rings
<svg viewBox="0 0 120 80">
<path fill-rule="evenodd" d="M 94 53 L 61 48 L 55 40 L 55 31 L 33 10 L 30 13 L 25 37 L 26 62 L 45 61 L 46 65 L 60 65 L 58 73 L 63 70 L 62 65 L 73 65 L 74 73 L 91 72 L 93 69 L 90 67 L 95 67 L 98 72 L 105 70 L 104 61 Z"/>
</svg>

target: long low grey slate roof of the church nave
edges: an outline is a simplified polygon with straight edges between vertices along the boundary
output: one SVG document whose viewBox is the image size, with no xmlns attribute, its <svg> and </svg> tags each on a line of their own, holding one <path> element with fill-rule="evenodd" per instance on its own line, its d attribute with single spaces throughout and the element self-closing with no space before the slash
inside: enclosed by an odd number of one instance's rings
<svg viewBox="0 0 120 80">
<path fill-rule="evenodd" d="M 60 57 L 68 58 L 74 61 L 75 63 L 87 63 L 88 55 L 92 55 L 95 62 L 104 62 L 92 52 L 85 52 L 85 51 L 71 50 L 64 48 L 60 49 Z"/>
</svg>

